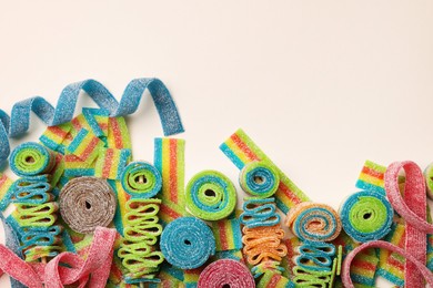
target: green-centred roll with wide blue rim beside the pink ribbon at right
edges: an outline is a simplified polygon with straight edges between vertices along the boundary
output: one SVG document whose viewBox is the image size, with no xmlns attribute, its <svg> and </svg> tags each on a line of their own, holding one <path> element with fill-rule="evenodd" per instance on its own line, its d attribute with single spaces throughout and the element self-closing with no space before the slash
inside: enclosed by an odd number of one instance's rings
<svg viewBox="0 0 433 288">
<path fill-rule="evenodd" d="M 373 191 L 352 194 L 340 208 L 343 229 L 360 243 L 383 238 L 391 230 L 393 215 L 387 199 Z"/>
</svg>

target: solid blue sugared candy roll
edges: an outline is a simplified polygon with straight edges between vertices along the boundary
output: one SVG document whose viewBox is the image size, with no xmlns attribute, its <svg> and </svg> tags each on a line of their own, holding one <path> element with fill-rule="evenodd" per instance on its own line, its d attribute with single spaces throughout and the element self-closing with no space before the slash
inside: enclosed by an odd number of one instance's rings
<svg viewBox="0 0 433 288">
<path fill-rule="evenodd" d="M 182 269 L 198 268 L 215 254 L 212 230 L 194 217 L 181 217 L 167 225 L 160 246 L 167 261 Z"/>
</svg>

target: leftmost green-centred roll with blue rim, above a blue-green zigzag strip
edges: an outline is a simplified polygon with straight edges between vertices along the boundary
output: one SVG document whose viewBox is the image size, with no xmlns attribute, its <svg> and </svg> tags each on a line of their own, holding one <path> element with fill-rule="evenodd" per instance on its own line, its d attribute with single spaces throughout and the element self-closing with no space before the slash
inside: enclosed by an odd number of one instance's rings
<svg viewBox="0 0 433 288">
<path fill-rule="evenodd" d="M 56 163 L 52 152 L 43 145 L 27 142 L 17 146 L 9 158 L 10 168 L 18 176 L 34 176 L 50 172 Z"/>
</svg>

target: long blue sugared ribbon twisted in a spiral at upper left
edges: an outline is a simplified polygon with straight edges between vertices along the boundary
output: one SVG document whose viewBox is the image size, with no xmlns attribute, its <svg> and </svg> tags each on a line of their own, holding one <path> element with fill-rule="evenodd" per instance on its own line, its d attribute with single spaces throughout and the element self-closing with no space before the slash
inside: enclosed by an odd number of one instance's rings
<svg viewBox="0 0 433 288">
<path fill-rule="evenodd" d="M 132 114 L 139 107 L 142 94 L 150 91 L 160 114 L 165 135 L 183 132 L 178 109 L 165 85 L 159 79 L 135 79 L 125 88 L 120 103 L 105 86 L 94 80 L 84 80 L 69 84 L 59 96 L 56 109 L 43 97 L 34 96 L 16 103 L 11 116 L 0 110 L 0 165 L 4 164 L 9 154 L 9 137 L 17 137 L 29 130 L 30 112 L 33 112 L 47 125 L 59 125 L 73 117 L 80 91 L 83 90 L 110 116 Z"/>
</svg>

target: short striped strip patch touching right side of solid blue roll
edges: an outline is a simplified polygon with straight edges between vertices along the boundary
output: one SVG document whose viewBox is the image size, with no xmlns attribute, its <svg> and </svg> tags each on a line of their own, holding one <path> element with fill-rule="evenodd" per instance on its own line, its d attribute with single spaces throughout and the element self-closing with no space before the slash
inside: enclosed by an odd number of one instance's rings
<svg viewBox="0 0 433 288">
<path fill-rule="evenodd" d="M 242 232 L 239 219 L 212 222 L 211 228 L 215 237 L 216 251 L 242 249 Z"/>
</svg>

